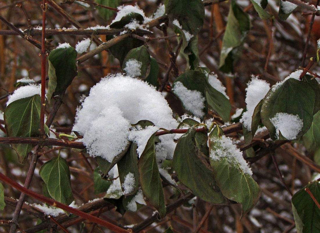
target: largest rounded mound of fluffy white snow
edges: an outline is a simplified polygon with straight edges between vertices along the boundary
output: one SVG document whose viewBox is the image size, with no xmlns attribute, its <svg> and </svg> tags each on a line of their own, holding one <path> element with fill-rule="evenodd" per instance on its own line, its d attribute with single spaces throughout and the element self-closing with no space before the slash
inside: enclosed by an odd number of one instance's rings
<svg viewBox="0 0 320 233">
<path fill-rule="evenodd" d="M 73 131 L 84 136 L 79 141 L 87 147 L 90 156 L 100 156 L 111 162 L 127 146 L 131 124 L 140 120 L 149 120 L 156 127 L 166 129 L 175 129 L 178 125 L 164 96 L 154 87 L 130 76 L 110 74 L 91 88 L 82 108 L 77 110 Z M 139 142 L 140 133 L 132 133 L 130 137 Z M 169 136 L 160 140 L 173 143 L 173 135 Z"/>
</svg>

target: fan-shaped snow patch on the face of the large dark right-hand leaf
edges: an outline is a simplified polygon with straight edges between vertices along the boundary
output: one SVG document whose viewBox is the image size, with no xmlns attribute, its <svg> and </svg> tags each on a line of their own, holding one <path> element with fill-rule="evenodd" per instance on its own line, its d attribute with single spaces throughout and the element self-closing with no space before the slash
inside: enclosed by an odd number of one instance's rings
<svg viewBox="0 0 320 233">
<path fill-rule="evenodd" d="M 303 127 L 303 121 L 298 115 L 294 116 L 283 112 L 277 113 L 270 121 L 276 127 L 278 138 L 280 131 L 286 139 L 294 140 Z"/>
</svg>

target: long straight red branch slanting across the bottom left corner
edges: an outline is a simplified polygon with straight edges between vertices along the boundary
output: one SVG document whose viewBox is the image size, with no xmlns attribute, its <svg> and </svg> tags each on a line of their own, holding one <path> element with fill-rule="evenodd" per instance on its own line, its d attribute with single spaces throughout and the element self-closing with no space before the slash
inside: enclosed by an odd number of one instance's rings
<svg viewBox="0 0 320 233">
<path fill-rule="evenodd" d="M 82 217 L 82 218 L 87 219 L 89 221 L 95 222 L 95 223 L 97 223 L 97 224 L 99 224 L 101 226 L 104 226 L 104 227 L 106 227 L 106 228 L 108 228 L 110 230 L 113 230 L 115 232 L 118 232 L 118 233 L 129 233 L 128 230 L 120 228 L 120 227 L 118 227 L 116 225 L 113 225 L 113 224 L 111 224 L 111 223 L 109 223 L 107 221 L 104 221 L 104 220 L 102 220 L 100 218 L 97 218 L 97 217 L 92 216 L 90 214 L 84 213 L 84 212 L 82 212 L 80 210 L 77 210 L 77 209 L 74 209 L 74 208 L 72 208 L 72 207 L 70 207 L 68 205 L 64 205 L 64 204 L 62 204 L 60 202 L 57 202 L 57 201 L 55 201 L 53 199 L 49 199 L 48 197 L 45 197 L 45 196 L 43 196 L 41 194 L 38 194 L 38 193 L 33 192 L 33 191 L 29 190 L 29 189 L 26 189 L 23 186 L 21 186 L 20 184 L 18 184 L 17 182 L 11 180 L 10 178 L 8 178 L 7 176 L 5 176 L 2 173 L 0 173 L 0 179 L 2 181 L 6 182 L 7 184 L 11 185 L 13 188 L 18 189 L 20 192 L 23 192 L 23 193 L 27 194 L 28 196 L 33 197 L 33 198 L 35 198 L 35 199 L 37 199 L 39 201 L 42 201 L 42 202 L 47 203 L 49 205 L 52 205 L 52 206 L 55 206 L 55 207 L 60 208 L 62 210 L 65 210 L 65 211 L 68 211 L 70 213 L 73 213 L 73 214 L 75 214 L 75 215 L 77 215 L 79 217 Z"/>
</svg>

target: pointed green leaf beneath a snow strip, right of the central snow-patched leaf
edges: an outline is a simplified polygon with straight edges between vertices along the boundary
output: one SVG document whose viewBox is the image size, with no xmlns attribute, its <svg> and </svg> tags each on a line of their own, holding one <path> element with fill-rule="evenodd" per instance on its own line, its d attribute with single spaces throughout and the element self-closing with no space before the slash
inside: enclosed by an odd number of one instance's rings
<svg viewBox="0 0 320 233">
<path fill-rule="evenodd" d="M 216 111 L 223 121 L 228 122 L 230 120 L 231 104 L 230 100 L 221 92 L 214 89 L 206 78 L 205 82 L 205 97 L 208 101 L 210 108 Z"/>
</svg>

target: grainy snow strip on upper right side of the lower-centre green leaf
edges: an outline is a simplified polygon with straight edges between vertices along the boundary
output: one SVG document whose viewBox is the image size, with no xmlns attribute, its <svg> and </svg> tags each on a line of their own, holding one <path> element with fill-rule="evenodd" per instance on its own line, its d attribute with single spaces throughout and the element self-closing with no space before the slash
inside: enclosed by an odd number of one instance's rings
<svg viewBox="0 0 320 233">
<path fill-rule="evenodd" d="M 210 138 L 210 144 L 213 144 L 210 150 L 210 158 L 219 161 L 220 158 L 226 158 L 228 163 L 240 166 L 243 173 L 252 176 L 252 171 L 247 162 L 244 160 L 242 152 L 232 144 L 232 138 L 222 135 Z"/>
</svg>

